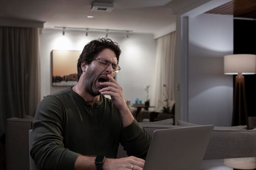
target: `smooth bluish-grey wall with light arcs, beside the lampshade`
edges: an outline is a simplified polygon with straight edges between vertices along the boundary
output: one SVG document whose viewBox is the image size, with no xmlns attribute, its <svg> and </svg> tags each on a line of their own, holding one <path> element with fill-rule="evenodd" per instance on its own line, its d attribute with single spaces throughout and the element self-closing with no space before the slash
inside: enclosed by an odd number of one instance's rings
<svg viewBox="0 0 256 170">
<path fill-rule="evenodd" d="M 233 81 L 223 72 L 227 54 L 233 54 L 233 16 L 189 17 L 189 122 L 231 126 Z"/>
</svg>

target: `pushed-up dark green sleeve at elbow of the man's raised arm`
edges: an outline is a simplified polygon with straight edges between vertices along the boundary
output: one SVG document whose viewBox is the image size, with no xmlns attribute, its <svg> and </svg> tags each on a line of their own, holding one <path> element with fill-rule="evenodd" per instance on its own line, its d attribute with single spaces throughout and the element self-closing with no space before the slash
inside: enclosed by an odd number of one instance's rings
<svg viewBox="0 0 256 170">
<path fill-rule="evenodd" d="M 151 136 L 136 120 L 122 130 L 121 145 L 124 146 L 128 156 L 146 159 L 150 146 Z"/>
</svg>

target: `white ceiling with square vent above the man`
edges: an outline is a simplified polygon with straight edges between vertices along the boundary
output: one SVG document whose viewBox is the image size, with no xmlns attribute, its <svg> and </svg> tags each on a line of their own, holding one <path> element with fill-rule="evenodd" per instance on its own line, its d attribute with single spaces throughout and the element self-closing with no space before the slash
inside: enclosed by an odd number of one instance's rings
<svg viewBox="0 0 256 170">
<path fill-rule="evenodd" d="M 91 11 L 94 0 L 0 0 L 0 18 L 45 22 L 54 26 L 156 33 L 175 23 L 171 0 L 100 0 L 113 2 L 111 12 Z M 94 18 L 87 18 L 93 15 Z"/>
</svg>

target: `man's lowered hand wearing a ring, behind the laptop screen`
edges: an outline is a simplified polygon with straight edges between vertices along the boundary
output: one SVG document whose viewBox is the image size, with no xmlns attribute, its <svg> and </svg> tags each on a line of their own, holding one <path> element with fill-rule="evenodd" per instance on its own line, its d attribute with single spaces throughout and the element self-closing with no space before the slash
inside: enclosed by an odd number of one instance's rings
<svg viewBox="0 0 256 170">
<path fill-rule="evenodd" d="M 105 159 L 103 170 L 142 170 L 145 161 L 137 157 Z"/>
</svg>

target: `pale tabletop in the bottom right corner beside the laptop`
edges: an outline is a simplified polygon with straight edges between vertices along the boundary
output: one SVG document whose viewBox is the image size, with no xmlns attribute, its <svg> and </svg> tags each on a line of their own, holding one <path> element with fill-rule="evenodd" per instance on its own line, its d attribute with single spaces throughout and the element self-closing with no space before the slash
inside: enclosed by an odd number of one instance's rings
<svg viewBox="0 0 256 170">
<path fill-rule="evenodd" d="M 256 170 L 256 157 L 203 160 L 200 170 Z"/>
</svg>

